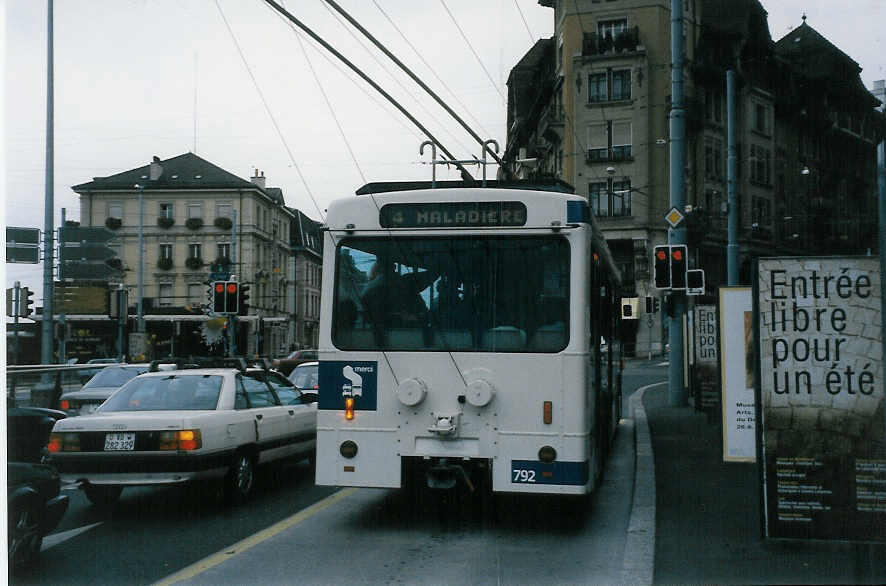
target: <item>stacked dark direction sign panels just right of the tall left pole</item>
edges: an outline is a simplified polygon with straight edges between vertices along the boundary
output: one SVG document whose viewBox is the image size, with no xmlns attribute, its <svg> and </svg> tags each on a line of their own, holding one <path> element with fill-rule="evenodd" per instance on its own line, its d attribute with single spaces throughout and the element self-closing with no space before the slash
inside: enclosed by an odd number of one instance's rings
<svg viewBox="0 0 886 586">
<path fill-rule="evenodd" d="M 116 253 L 104 244 L 115 236 L 101 226 L 59 228 L 59 278 L 103 280 L 117 274 L 105 262 Z"/>
</svg>

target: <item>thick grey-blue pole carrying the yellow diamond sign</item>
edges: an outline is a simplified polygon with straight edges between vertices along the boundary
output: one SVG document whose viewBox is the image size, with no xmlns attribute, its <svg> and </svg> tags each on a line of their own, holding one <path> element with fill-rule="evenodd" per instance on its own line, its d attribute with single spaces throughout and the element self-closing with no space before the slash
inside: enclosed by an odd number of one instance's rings
<svg viewBox="0 0 886 586">
<path fill-rule="evenodd" d="M 686 111 L 683 104 L 683 0 L 671 0 L 671 112 L 670 112 L 670 196 L 671 207 L 682 212 L 686 207 Z M 686 228 L 680 224 L 668 230 L 669 244 L 686 244 Z M 683 386 L 683 315 L 686 295 L 671 290 L 673 305 L 668 342 L 668 405 L 687 404 Z"/>
</svg>

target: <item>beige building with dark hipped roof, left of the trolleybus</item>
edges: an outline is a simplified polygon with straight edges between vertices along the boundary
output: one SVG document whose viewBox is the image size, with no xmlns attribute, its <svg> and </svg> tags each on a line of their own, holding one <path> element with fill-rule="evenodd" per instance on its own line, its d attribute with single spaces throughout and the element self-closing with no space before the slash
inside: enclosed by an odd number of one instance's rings
<svg viewBox="0 0 886 586">
<path fill-rule="evenodd" d="M 154 157 L 149 165 L 72 189 L 80 195 L 81 225 L 117 234 L 108 245 L 123 272 L 110 286 L 130 291 L 130 313 L 138 295 L 141 226 L 149 357 L 218 350 L 215 344 L 224 343 L 219 329 L 227 326 L 208 319 L 204 309 L 210 281 L 224 278 L 250 288 L 248 309 L 236 320 L 238 354 L 276 356 L 294 343 L 295 214 L 280 189 L 266 187 L 264 173 L 246 181 L 186 153 Z"/>
</svg>

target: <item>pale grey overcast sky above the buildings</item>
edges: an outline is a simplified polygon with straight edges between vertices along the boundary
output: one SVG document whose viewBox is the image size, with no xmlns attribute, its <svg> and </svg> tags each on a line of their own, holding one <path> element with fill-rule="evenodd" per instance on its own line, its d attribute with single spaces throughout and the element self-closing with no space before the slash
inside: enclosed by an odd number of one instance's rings
<svg viewBox="0 0 886 586">
<path fill-rule="evenodd" d="M 504 148 L 506 81 L 553 34 L 537 0 L 338 0 L 481 137 Z M 3 6 L 4 0 L 0 0 Z M 322 0 L 280 0 L 352 59 L 460 158 L 480 149 Z M 773 39 L 807 23 L 886 79 L 886 0 L 763 0 Z M 5 0 L 0 135 L 7 226 L 42 230 L 47 1 Z M 79 219 L 71 186 L 194 152 L 248 179 L 264 172 L 314 219 L 371 181 L 429 180 L 420 132 L 261 0 L 55 0 L 54 208 Z M 331 112 L 335 112 L 335 116 Z M 488 174 L 495 175 L 495 167 Z M 474 173 L 478 176 L 479 173 Z M 438 169 L 438 178 L 456 178 Z M 5 265 L 42 305 L 42 265 Z"/>
</svg>

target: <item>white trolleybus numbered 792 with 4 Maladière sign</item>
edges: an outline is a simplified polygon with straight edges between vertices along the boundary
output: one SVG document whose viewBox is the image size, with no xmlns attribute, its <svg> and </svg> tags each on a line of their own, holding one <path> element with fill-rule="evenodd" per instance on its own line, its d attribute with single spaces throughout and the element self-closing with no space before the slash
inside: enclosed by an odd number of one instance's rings
<svg viewBox="0 0 886 586">
<path fill-rule="evenodd" d="M 621 371 L 587 200 L 420 185 L 329 206 L 317 484 L 590 493 Z"/>
</svg>

